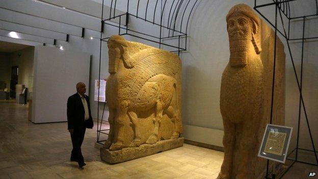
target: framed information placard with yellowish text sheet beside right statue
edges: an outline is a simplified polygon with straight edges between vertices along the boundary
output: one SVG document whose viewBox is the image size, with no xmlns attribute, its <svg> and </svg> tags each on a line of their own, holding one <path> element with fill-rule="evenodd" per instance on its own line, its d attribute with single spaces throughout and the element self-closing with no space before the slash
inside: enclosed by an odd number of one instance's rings
<svg viewBox="0 0 318 179">
<path fill-rule="evenodd" d="M 293 127 L 267 124 L 258 157 L 285 163 Z"/>
</svg>

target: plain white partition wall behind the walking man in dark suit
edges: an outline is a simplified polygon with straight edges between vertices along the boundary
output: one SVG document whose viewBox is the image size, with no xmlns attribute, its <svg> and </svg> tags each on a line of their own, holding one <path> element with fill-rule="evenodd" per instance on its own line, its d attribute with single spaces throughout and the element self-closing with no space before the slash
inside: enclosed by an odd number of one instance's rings
<svg viewBox="0 0 318 179">
<path fill-rule="evenodd" d="M 67 121 L 67 98 L 77 82 L 89 84 L 90 54 L 37 46 L 34 69 L 32 122 Z"/>
</svg>

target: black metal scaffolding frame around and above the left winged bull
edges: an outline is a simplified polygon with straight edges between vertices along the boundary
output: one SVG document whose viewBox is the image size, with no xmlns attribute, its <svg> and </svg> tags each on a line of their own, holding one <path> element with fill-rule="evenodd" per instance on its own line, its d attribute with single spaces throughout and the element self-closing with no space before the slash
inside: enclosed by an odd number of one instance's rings
<svg viewBox="0 0 318 179">
<path fill-rule="evenodd" d="M 98 71 L 98 79 L 100 80 L 100 63 L 101 63 L 101 53 L 102 53 L 102 43 L 107 42 L 110 37 L 103 38 L 103 32 L 105 26 L 118 28 L 118 35 L 128 35 L 133 36 L 138 39 L 143 39 L 149 42 L 157 43 L 158 48 L 163 48 L 164 46 L 170 47 L 172 50 L 170 52 L 177 53 L 180 55 L 181 52 L 187 50 L 187 41 L 188 41 L 188 26 L 190 22 L 191 14 L 193 13 L 195 7 L 199 4 L 199 0 L 156 0 L 152 1 L 154 8 L 150 9 L 151 2 L 149 0 L 146 4 L 145 13 L 140 13 L 140 4 L 141 1 L 137 2 L 137 10 L 136 12 L 129 12 L 129 6 L 133 6 L 136 4 L 129 3 L 127 0 L 127 10 L 124 14 L 116 15 L 116 5 L 117 0 L 112 0 L 110 6 L 110 14 L 109 17 L 104 19 L 104 0 L 102 1 L 102 11 L 101 11 L 101 30 L 100 30 L 100 50 L 99 50 L 99 71 Z M 169 3 L 172 4 L 169 5 Z M 122 3 L 122 2 L 121 2 Z M 154 4 L 155 3 L 155 4 Z M 160 11 L 159 18 L 155 18 L 157 16 L 156 12 Z M 183 11 L 183 12 L 182 12 Z M 164 13 L 169 16 L 164 17 Z M 151 14 L 153 17 L 149 17 Z M 122 24 L 122 19 L 125 17 L 125 22 Z M 160 31 L 159 36 L 153 34 L 147 34 L 143 32 L 139 32 L 138 30 L 133 30 L 129 28 L 129 17 L 136 17 L 136 19 L 143 20 L 145 23 L 153 25 L 157 30 Z M 158 16 L 157 16 L 158 17 Z M 164 22 L 164 18 L 167 18 L 167 23 Z M 164 31 L 166 35 L 164 35 Z M 167 35 L 168 34 L 168 35 Z M 184 40 L 181 40 L 184 39 Z M 177 40 L 177 45 L 174 43 L 163 42 L 165 40 Z M 98 89 L 98 99 L 99 99 L 99 89 Z M 101 125 L 103 122 L 104 109 L 105 104 L 103 106 L 103 112 L 101 119 L 99 119 L 99 102 L 97 104 L 97 143 L 103 144 L 105 140 L 100 140 L 100 134 L 108 135 L 109 129 L 101 130 Z"/>
</svg>

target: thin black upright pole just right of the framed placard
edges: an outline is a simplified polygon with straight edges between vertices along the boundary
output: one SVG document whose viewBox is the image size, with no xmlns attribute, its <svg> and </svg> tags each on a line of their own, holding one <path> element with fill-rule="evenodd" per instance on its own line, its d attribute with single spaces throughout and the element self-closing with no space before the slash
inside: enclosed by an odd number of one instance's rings
<svg viewBox="0 0 318 179">
<path fill-rule="evenodd" d="M 298 146 L 299 146 L 299 130 L 300 130 L 300 119 L 301 119 L 301 95 L 303 88 L 303 57 L 304 57 L 304 36 L 305 36 L 305 17 L 303 18 L 303 40 L 302 40 L 302 55 L 301 55 L 301 70 L 300 70 L 300 94 L 299 94 L 299 109 L 298 109 L 298 126 L 297 126 L 297 144 L 296 144 L 296 161 L 298 159 Z"/>
</svg>

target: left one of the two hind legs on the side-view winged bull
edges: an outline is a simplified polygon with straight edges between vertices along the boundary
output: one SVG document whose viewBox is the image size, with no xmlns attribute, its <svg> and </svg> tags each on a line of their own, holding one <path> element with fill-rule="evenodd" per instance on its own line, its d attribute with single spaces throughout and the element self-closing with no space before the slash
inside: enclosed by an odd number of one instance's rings
<svg viewBox="0 0 318 179">
<path fill-rule="evenodd" d="M 160 100 L 157 100 L 155 105 L 155 112 L 154 112 L 154 127 L 153 132 L 146 141 L 147 144 L 154 144 L 158 141 L 158 132 L 159 132 L 159 125 L 162 119 L 162 114 L 164 111 L 164 105 Z"/>
</svg>

